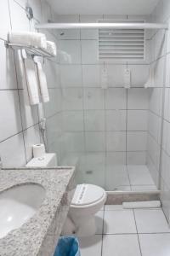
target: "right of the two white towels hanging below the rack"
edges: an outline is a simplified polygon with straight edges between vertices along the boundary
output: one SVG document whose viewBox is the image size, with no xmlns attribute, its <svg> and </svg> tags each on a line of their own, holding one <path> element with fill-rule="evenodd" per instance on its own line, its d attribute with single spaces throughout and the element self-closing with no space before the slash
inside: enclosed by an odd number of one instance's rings
<svg viewBox="0 0 170 256">
<path fill-rule="evenodd" d="M 38 77 L 38 84 L 40 88 L 40 95 L 42 96 L 42 102 L 49 102 L 49 95 L 48 95 L 48 84 L 46 75 L 43 72 L 42 64 L 36 61 L 37 64 L 37 77 Z"/>
</svg>

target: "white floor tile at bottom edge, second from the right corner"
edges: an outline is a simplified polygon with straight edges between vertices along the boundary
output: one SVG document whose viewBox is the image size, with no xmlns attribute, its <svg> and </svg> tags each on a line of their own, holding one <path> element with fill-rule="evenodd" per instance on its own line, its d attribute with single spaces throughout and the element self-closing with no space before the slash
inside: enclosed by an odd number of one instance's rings
<svg viewBox="0 0 170 256">
<path fill-rule="evenodd" d="M 92 254 L 88 254 L 92 255 Z M 106 235 L 103 241 L 103 256 L 140 256 L 137 235 Z"/>
</svg>

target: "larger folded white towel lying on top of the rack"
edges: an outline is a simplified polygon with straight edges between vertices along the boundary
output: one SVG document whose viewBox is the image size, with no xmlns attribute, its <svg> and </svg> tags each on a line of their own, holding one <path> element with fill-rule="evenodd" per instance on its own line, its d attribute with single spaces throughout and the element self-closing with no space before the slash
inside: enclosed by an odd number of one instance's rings
<svg viewBox="0 0 170 256">
<path fill-rule="evenodd" d="M 8 32 L 8 41 L 11 44 L 47 49 L 47 39 L 45 34 L 38 32 Z"/>
</svg>

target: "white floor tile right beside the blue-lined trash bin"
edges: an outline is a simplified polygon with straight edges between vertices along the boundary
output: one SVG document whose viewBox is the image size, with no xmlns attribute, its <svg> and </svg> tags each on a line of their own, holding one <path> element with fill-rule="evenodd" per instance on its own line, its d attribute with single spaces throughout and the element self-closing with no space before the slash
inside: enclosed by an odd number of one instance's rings
<svg viewBox="0 0 170 256">
<path fill-rule="evenodd" d="M 81 237 L 78 239 L 80 243 L 81 256 L 100 256 L 102 236 L 95 235 L 89 237 Z"/>
</svg>

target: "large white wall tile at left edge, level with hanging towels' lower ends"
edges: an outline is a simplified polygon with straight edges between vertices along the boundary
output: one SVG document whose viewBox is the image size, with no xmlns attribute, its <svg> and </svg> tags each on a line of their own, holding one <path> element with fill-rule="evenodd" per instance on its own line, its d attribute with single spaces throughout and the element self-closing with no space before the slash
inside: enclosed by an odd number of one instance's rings
<svg viewBox="0 0 170 256">
<path fill-rule="evenodd" d="M 17 90 L 0 90 L 0 141 L 22 130 Z"/>
</svg>

